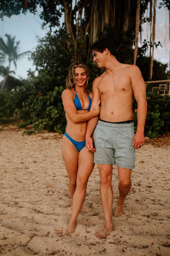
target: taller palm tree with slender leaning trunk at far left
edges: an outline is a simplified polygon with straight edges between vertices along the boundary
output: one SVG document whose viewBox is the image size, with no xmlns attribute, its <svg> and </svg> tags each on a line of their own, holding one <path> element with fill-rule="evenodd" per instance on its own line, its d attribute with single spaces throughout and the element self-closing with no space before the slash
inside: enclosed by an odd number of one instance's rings
<svg viewBox="0 0 170 256">
<path fill-rule="evenodd" d="M 9 64 L 8 64 L 8 69 L 7 69 L 5 79 L 1 86 L 1 91 L 3 90 L 4 85 L 9 76 L 11 62 L 13 61 L 15 68 L 17 68 L 16 61 L 21 59 L 22 57 L 24 57 L 26 54 L 28 54 L 30 52 L 30 51 L 25 51 L 25 52 L 22 52 L 19 54 L 20 40 L 17 41 L 15 44 L 15 36 L 11 37 L 11 35 L 8 35 L 8 34 L 5 34 L 5 36 L 7 37 L 6 44 L 5 44 L 4 40 L 2 39 L 2 37 L 0 37 L 0 50 L 1 50 L 0 51 L 0 62 L 3 63 L 5 61 L 8 61 Z"/>
</svg>

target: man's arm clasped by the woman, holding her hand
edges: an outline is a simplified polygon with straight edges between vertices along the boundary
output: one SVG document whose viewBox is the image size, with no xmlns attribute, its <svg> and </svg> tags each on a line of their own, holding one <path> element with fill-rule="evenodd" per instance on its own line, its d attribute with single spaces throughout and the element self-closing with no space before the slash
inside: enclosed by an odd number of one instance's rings
<svg viewBox="0 0 170 256">
<path fill-rule="evenodd" d="M 90 111 L 94 111 L 95 110 L 95 107 L 96 107 L 96 102 L 98 102 L 100 100 L 100 93 L 99 93 L 99 90 L 97 88 L 97 79 L 96 78 L 93 82 L 93 87 L 92 87 L 92 91 L 93 91 L 93 98 L 92 98 L 92 102 L 91 102 L 91 108 L 90 108 Z M 86 131 L 86 147 L 93 151 L 94 152 L 94 146 L 93 146 L 93 140 L 91 138 L 91 135 L 93 134 L 93 131 L 96 127 L 96 124 L 97 124 L 97 121 L 98 121 L 98 116 L 95 116 L 94 118 L 88 120 L 88 123 L 87 123 L 87 131 Z"/>
</svg>

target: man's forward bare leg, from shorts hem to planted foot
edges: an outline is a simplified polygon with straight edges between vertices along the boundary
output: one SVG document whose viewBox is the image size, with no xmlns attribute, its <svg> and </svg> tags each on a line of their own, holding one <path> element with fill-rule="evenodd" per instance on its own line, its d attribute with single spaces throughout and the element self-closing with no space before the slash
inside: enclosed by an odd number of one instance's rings
<svg viewBox="0 0 170 256">
<path fill-rule="evenodd" d="M 96 233 L 99 239 L 105 238 L 113 230 L 112 221 L 112 205 L 113 205 L 113 190 L 112 190 L 112 164 L 98 164 L 100 173 L 100 198 L 102 202 L 104 217 L 106 219 L 106 227 Z"/>
</svg>

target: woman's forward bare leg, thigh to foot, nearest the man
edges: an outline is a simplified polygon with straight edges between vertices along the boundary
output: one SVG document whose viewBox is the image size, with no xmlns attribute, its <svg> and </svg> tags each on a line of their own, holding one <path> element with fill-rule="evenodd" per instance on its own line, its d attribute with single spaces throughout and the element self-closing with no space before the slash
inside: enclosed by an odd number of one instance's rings
<svg viewBox="0 0 170 256">
<path fill-rule="evenodd" d="M 86 188 L 88 178 L 94 168 L 94 155 L 90 151 L 85 151 L 84 147 L 79 153 L 79 166 L 77 172 L 76 190 L 73 195 L 73 207 L 69 225 L 66 230 L 66 235 L 72 234 L 75 231 L 77 216 L 84 203 L 86 197 Z"/>
</svg>

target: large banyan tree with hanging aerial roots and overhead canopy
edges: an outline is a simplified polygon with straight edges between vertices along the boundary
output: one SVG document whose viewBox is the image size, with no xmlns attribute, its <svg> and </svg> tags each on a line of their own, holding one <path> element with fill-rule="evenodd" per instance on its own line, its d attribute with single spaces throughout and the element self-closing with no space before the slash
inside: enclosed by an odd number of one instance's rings
<svg viewBox="0 0 170 256">
<path fill-rule="evenodd" d="M 7 4 L 8 2 L 8 4 Z M 50 27 L 59 26 L 64 14 L 64 24 L 69 40 L 67 47 L 74 49 L 74 59 L 90 58 L 89 46 L 101 37 L 112 38 L 123 61 L 136 63 L 138 40 L 142 33 L 142 23 L 150 23 L 150 72 L 155 44 L 156 0 L 16 0 L 0 2 L 0 18 L 12 14 L 36 12 L 37 5 L 43 8 L 40 17 Z M 160 7 L 170 10 L 169 1 L 162 0 Z M 149 17 L 146 10 L 149 9 Z M 169 15 L 170 18 L 170 15 Z M 170 35 L 170 34 L 169 34 Z M 60 42 L 61 45 L 62 42 Z M 127 54 L 128 53 L 128 54 Z M 130 54 L 129 54 L 130 53 Z M 128 56 L 128 58 L 127 58 Z"/>
</svg>

